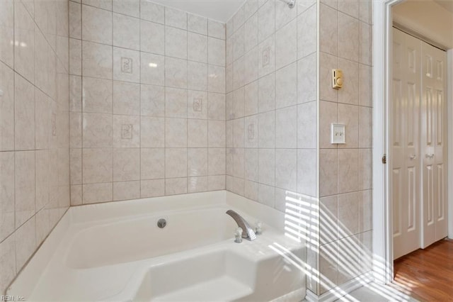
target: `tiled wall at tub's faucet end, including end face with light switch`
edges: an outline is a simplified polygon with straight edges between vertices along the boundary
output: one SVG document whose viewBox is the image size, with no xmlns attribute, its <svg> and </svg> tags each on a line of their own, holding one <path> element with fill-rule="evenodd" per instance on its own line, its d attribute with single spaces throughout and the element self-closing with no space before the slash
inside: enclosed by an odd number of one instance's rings
<svg viewBox="0 0 453 302">
<path fill-rule="evenodd" d="M 226 24 L 226 189 L 311 224 L 289 234 L 318 295 L 371 265 L 371 71 L 371 1 L 248 0 Z"/>
</svg>

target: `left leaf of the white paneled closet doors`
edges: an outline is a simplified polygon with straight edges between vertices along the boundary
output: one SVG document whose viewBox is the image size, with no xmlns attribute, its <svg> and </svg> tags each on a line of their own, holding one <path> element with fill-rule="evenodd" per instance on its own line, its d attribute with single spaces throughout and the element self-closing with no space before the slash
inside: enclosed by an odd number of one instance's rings
<svg viewBox="0 0 453 302">
<path fill-rule="evenodd" d="M 420 247 L 420 43 L 394 29 L 391 196 L 394 258 Z"/>
</svg>

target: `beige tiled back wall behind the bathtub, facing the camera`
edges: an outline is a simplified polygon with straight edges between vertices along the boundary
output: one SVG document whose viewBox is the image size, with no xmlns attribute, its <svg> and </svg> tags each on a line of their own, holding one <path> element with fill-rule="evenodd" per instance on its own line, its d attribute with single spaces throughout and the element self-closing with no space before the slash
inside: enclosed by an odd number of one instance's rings
<svg viewBox="0 0 453 302">
<path fill-rule="evenodd" d="M 224 24 L 69 1 L 71 205 L 225 187 Z"/>
</svg>

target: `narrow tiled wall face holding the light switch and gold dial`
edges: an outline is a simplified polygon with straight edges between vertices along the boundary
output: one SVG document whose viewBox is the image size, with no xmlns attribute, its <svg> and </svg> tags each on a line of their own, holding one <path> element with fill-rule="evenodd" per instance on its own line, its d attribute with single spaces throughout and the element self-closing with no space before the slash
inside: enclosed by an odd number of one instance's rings
<svg viewBox="0 0 453 302">
<path fill-rule="evenodd" d="M 368 272 L 372 250 L 371 1 L 321 1 L 319 39 L 320 293 Z M 344 86 L 331 88 L 331 69 Z M 345 145 L 330 142 L 346 125 Z"/>
</svg>

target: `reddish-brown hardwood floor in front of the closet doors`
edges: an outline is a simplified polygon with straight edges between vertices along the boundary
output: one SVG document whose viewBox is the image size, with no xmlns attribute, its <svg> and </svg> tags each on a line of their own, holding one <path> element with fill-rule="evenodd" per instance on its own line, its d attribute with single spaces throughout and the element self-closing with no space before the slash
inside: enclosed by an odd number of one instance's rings
<svg viewBox="0 0 453 302">
<path fill-rule="evenodd" d="M 393 286 L 420 301 L 453 301 L 453 240 L 440 240 L 394 262 Z"/>
</svg>

